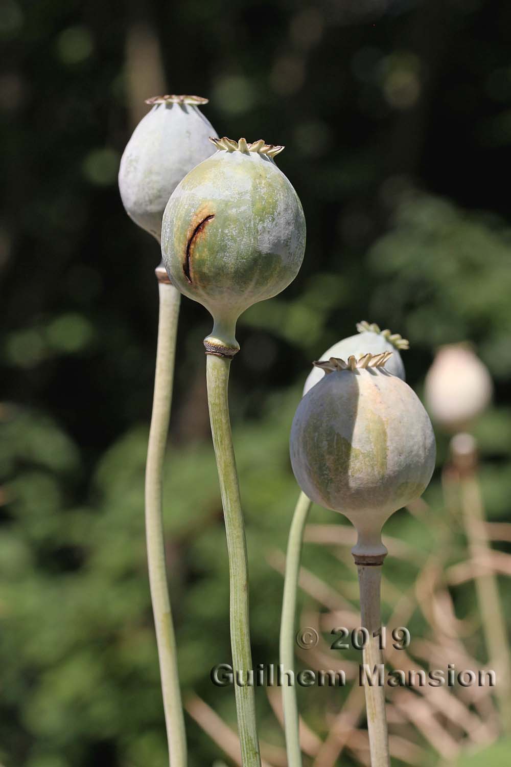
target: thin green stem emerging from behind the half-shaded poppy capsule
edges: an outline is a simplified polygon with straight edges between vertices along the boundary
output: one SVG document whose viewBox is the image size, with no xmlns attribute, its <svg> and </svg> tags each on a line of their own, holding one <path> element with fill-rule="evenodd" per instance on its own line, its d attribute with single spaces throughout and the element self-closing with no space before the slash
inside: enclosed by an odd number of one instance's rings
<svg viewBox="0 0 511 767">
<path fill-rule="evenodd" d="M 294 670 L 296 592 L 298 591 L 303 531 L 311 505 L 310 499 L 305 493 L 300 492 L 287 539 L 286 572 L 284 574 L 282 614 L 280 617 L 280 663 L 282 663 L 285 671 Z M 282 705 L 287 765 L 288 767 L 302 767 L 299 716 L 294 685 L 283 685 Z"/>
</svg>

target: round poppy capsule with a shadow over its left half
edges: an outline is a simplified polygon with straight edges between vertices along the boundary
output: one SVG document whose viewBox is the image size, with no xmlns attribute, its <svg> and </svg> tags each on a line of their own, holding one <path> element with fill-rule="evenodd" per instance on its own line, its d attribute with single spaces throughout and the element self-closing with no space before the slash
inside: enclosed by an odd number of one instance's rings
<svg viewBox="0 0 511 767">
<path fill-rule="evenodd" d="M 290 438 L 301 489 L 349 518 L 359 534 L 353 555 L 367 564 L 382 560 L 383 524 L 424 492 L 435 461 L 431 421 L 385 369 L 390 354 L 316 363 L 326 375 L 300 400 Z"/>
</svg>

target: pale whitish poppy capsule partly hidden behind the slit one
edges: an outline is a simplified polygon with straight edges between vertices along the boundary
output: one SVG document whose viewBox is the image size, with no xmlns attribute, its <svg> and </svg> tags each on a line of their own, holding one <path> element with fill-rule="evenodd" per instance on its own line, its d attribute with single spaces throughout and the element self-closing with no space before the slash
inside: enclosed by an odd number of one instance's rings
<svg viewBox="0 0 511 767">
<path fill-rule="evenodd" d="M 133 221 L 159 241 L 163 211 L 189 170 L 215 150 L 215 128 L 199 110 L 201 96 L 155 96 L 126 144 L 119 169 L 123 206 Z"/>
</svg>

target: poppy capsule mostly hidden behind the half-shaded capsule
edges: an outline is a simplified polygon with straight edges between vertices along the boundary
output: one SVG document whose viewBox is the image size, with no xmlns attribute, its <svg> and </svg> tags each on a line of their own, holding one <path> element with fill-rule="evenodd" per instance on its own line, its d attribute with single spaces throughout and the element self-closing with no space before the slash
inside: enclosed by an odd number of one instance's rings
<svg viewBox="0 0 511 767">
<path fill-rule="evenodd" d="M 391 333 L 389 330 L 381 331 L 375 322 L 369 324 L 365 320 L 358 322 L 356 329 L 359 331 L 354 336 L 343 338 L 337 341 L 325 354 L 319 357 L 319 360 L 326 361 L 330 357 L 340 357 L 347 360 L 349 357 L 360 357 L 362 354 L 382 354 L 384 351 L 391 351 L 391 357 L 385 363 L 385 370 L 393 376 L 405 380 L 405 365 L 401 360 L 399 351 L 408 349 L 410 344 L 406 338 L 402 338 L 398 333 Z M 310 374 L 306 377 L 303 393 L 306 394 L 312 387 L 323 378 L 323 370 L 320 367 L 313 367 Z"/>
</svg>

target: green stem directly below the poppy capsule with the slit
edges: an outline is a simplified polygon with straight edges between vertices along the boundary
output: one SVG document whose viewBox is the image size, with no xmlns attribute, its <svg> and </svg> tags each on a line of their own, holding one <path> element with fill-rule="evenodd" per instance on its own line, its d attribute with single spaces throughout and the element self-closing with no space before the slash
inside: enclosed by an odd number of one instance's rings
<svg viewBox="0 0 511 767">
<path fill-rule="evenodd" d="M 209 418 L 217 459 L 229 555 L 231 650 L 241 762 L 243 767 L 260 767 L 254 686 L 247 685 L 247 672 L 253 668 L 248 613 L 247 543 L 229 418 L 230 367 L 230 357 L 218 354 L 206 355 Z M 237 678 L 243 686 L 236 683 Z"/>
</svg>

